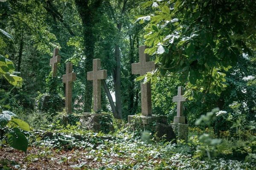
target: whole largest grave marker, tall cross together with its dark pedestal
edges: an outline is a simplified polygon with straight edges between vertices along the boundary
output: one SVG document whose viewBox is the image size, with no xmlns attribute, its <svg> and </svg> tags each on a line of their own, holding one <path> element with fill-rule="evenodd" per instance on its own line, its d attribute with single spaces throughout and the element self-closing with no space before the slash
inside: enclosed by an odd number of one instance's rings
<svg viewBox="0 0 256 170">
<path fill-rule="evenodd" d="M 143 76 L 147 74 L 147 72 L 155 70 L 156 66 L 154 61 L 149 61 L 149 55 L 144 53 L 145 48 L 147 47 L 139 47 L 140 62 L 131 64 L 132 74 L 140 74 L 140 76 Z M 172 130 L 172 126 L 168 124 L 167 116 L 152 115 L 150 82 L 146 84 L 140 82 L 140 89 L 142 116 L 138 117 L 136 115 L 129 115 L 128 123 L 133 123 L 134 121 L 137 121 L 137 119 L 141 119 L 141 126 L 145 128 L 146 126 L 150 126 L 153 122 L 156 122 L 156 124 L 151 128 L 157 132 L 157 137 L 161 138 L 163 135 L 166 135 L 166 140 L 169 142 L 172 141 L 172 139 L 176 139 L 175 133 Z M 172 141 L 172 143 L 176 143 L 176 140 Z"/>
</svg>

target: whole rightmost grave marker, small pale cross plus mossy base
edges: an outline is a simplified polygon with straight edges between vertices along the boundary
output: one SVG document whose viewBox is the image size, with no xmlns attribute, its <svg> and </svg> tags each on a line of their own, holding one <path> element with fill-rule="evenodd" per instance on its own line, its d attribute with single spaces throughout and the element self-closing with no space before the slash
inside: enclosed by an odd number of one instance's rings
<svg viewBox="0 0 256 170">
<path fill-rule="evenodd" d="M 188 140 L 189 127 L 185 124 L 185 117 L 183 116 L 183 102 L 188 99 L 183 97 L 183 87 L 178 87 L 178 94 L 172 98 L 172 102 L 177 102 L 177 116 L 174 116 L 174 123 L 172 123 L 173 130 L 177 133 L 178 139 Z"/>
</svg>

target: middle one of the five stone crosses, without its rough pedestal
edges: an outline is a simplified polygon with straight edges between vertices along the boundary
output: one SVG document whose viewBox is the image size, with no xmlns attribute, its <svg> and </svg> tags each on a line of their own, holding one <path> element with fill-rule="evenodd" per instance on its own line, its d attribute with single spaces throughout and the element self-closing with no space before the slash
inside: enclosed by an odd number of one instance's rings
<svg viewBox="0 0 256 170">
<path fill-rule="evenodd" d="M 107 79 L 107 70 L 100 70 L 100 59 L 93 59 L 93 71 L 87 72 L 87 80 L 93 80 L 93 111 L 101 110 L 101 79 Z"/>
</svg>

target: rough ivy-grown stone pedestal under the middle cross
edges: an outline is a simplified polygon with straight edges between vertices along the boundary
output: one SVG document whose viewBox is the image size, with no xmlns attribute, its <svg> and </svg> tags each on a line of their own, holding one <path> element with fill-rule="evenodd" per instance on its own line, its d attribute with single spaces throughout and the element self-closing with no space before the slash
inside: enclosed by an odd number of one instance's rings
<svg viewBox="0 0 256 170">
<path fill-rule="evenodd" d="M 100 131 L 108 133 L 114 130 L 111 116 L 108 113 L 83 113 L 79 122 L 82 127 L 96 133 Z"/>
</svg>

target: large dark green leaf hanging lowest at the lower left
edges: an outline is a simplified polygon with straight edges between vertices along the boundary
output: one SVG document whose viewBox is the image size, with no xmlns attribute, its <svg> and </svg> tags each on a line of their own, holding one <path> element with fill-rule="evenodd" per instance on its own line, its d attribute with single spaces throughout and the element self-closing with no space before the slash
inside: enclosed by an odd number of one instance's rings
<svg viewBox="0 0 256 170">
<path fill-rule="evenodd" d="M 17 150 L 22 150 L 26 153 L 28 148 L 28 139 L 26 139 L 26 136 L 20 132 L 19 128 L 14 128 L 14 131 L 8 134 L 7 139 L 11 147 Z"/>
</svg>

